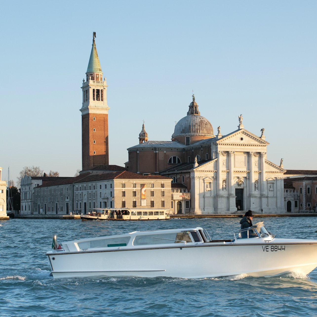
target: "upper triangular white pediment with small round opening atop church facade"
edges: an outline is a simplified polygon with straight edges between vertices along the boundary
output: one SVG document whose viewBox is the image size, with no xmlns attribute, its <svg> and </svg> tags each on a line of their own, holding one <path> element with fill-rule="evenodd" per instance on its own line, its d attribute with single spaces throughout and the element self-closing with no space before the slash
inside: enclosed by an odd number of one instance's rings
<svg viewBox="0 0 317 317">
<path fill-rule="evenodd" d="M 257 137 L 256 135 L 252 134 L 251 132 L 241 129 L 237 130 L 235 132 L 232 132 L 223 138 L 217 140 L 218 145 L 256 145 L 256 146 L 266 146 L 269 143 L 260 137 Z"/>
</svg>

